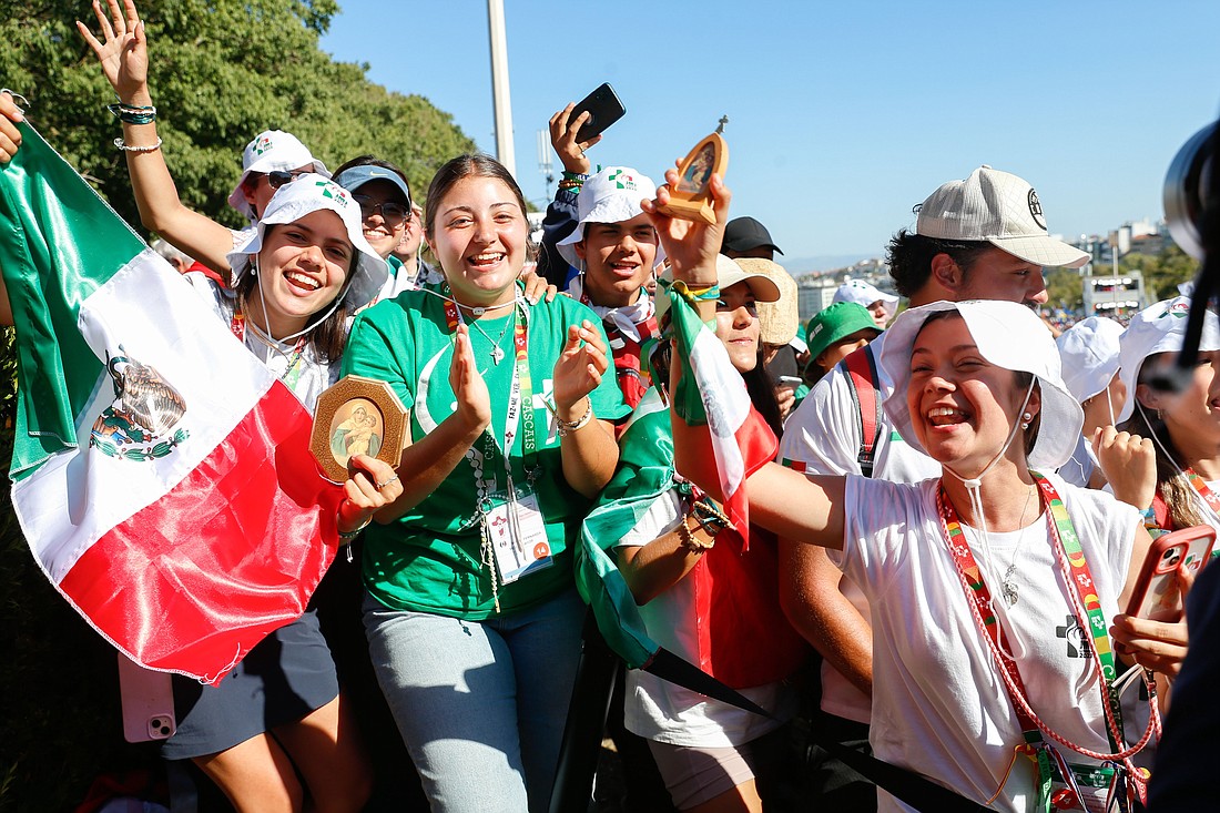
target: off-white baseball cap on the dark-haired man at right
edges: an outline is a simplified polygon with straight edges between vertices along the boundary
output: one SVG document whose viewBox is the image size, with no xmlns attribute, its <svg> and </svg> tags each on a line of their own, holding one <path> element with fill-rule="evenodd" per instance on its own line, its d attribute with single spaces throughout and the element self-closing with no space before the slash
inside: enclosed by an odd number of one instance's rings
<svg viewBox="0 0 1220 813">
<path fill-rule="evenodd" d="M 1089 260 L 1078 248 L 1050 237 L 1033 187 L 986 164 L 920 204 L 915 231 L 944 240 L 986 240 L 1042 266 L 1078 269 Z"/>
</svg>

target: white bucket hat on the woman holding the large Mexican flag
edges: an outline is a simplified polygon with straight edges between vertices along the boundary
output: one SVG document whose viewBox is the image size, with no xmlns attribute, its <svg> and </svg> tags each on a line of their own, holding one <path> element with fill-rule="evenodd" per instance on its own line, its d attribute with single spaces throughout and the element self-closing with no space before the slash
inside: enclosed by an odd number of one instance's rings
<svg viewBox="0 0 1220 813">
<path fill-rule="evenodd" d="M 346 283 L 345 299 L 355 306 L 367 305 L 389 278 L 389 266 L 365 239 L 360 206 L 343 187 L 321 175 L 303 175 L 292 183 L 276 190 L 267 211 L 255 228 L 249 229 L 249 237 L 228 255 L 233 269 L 233 283 L 250 267 L 250 256 L 262 248 L 262 237 L 268 226 L 293 223 L 318 210 L 333 211 L 343 220 L 348 229 L 348 239 L 357 254 L 355 271 Z"/>
</svg>

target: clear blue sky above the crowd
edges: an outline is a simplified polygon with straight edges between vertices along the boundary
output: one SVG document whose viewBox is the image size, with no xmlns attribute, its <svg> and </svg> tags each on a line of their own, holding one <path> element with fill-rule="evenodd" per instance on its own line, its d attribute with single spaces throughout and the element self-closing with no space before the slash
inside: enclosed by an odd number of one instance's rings
<svg viewBox="0 0 1220 813">
<path fill-rule="evenodd" d="M 325 50 L 494 154 L 484 0 L 340 5 Z M 1204 0 L 505 0 L 505 15 L 526 197 L 545 195 L 537 131 L 610 82 L 627 115 L 595 162 L 659 178 L 727 114 L 733 214 L 789 259 L 878 255 L 980 164 L 1033 183 L 1053 232 L 1160 219 L 1170 160 L 1220 111 L 1220 4 Z"/>
</svg>

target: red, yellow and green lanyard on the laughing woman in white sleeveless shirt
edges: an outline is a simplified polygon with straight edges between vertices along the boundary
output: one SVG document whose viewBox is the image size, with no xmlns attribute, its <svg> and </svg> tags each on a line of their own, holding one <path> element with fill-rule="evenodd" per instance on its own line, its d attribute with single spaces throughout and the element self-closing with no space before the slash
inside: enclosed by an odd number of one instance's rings
<svg viewBox="0 0 1220 813">
<path fill-rule="evenodd" d="M 958 570 L 963 588 L 966 593 L 966 601 L 974 612 L 975 621 L 983 632 L 983 638 L 988 643 L 992 658 L 997 667 L 999 667 L 1000 674 L 1004 678 L 1004 687 L 1008 690 L 1009 698 L 1013 701 L 1013 707 L 1025 737 L 1025 745 L 1021 746 L 1020 751 L 1025 756 L 1035 759 L 1037 764 L 1036 782 L 1038 790 L 1038 808 L 1043 811 L 1050 809 L 1050 781 L 1053 776 L 1050 770 L 1052 756 L 1058 763 L 1061 763 L 1058 754 L 1048 747 L 1043 735 L 1049 736 L 1060 745 L 1068 746 L 1078 753 L 1102 762 L 1122 761 L 1127 768 L 1128 778 L 1133 780 L 1133 784 L 1137 784 L 1137 791 L 1142 795 L 1142 787 L 1138 787 L 1138 785 L 1142 785 L 1142 781 L 1139 781 L 1142 776 L 1130 763 L 1130 757 L 1139 751 L 1143 747 L 1143 743 L 1147 742 L 1153 728 L 1152 721 L 1149 721 L 1149 731 L 1146 732 L 1139 743 L 1132 748 L 1121 751 L 1122 710 L 1119 695 L 1113 687 L 1114 679 L 1116 678 L 1114 652 L 1110 649 L 1105 616 L 1102 610 L 1100 601 L 1097 596 L 1092 571 L 1085 559 L 1085 552 L 1081 548 L 1080 537 L 1076 533 L 1075 525 L 1068 515 L 1068 509 L 1064 505 L 1063 499 L 1060 499 L 1054 485 L 1037 472 L 1031 471 L 1030 474 L 1033 476 L 1035 482 L 1038 486 L 1038 491 L 1041 492 L 1042 502 L 1048 509 L 1047 526 L 1050 532 L 1052 548 L 1054 549 L 1055 559 L 1064 581 L 1071 585 L 1069 602 L 1071 604 L 1072 613 L 1076 615 L 1076 623 L 1082 630 L 1088 629 L 1093 640 L 1091 654 L 1093 656 L 1093 664 L 1100 678 L 1102 706 L 1105 714 L 1107 737 L 1109 740 L 1111 753 L 1105 754 L 1093 752 L 1070 742 L 1043 724 L 1030 707 L 1026 701 L 1025 685 L 1021 681 L 1016 662 L 1008 653 L 1008 647 L 1004 642 L 1004 632 L 1000 630 L 998 619 L 992 612 L 991 591 L 987 588 L 982 570 L 978 568 L 978 563 L 975 560 L 974 553 L 970 551 L 970 544 L 966 542 L 965 533 L 961 530 L 961 522 L 958 519 L 956 509 L 953 507 L 953 503 L 949 502 L 948 494 L 946 494 L 942 485 L 939 492 L 937 493 L 937 509 L 941 515 L 941 527 L 944 532 L 949 553 L 953 557 L 953 564 Z M 1153 709 L 1153 715 L 1155 715 L 1155 709 Z M 1065 781 L 1074 781 L 1071 771 L 1065 764 L 1060 765 L 1060 774 Z"/>
</svg>

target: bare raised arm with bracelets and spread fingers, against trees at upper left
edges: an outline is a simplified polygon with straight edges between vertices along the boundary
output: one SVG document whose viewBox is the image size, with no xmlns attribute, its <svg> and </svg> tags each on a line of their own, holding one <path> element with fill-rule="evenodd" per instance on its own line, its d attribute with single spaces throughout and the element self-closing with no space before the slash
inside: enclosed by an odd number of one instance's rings
<svg viewBox="0 0 1220 813">
<path fill-rule="evenodd" d="M 106 0 L 106 5 L 109 18 L 100 0 L 93 0 L 93 11 L 101 32 L 100 40 L 81 21 L 77 21 L 77 29 L 98 56 L 102 73 L 118 94 L 120 104 L 129 110 L 151 109 L 144 22 L 135 11 L 133 0 L 123 0 L 122 9 L 117 0 Z M 146 118 L 129 114 L 124 114 L 124 117 L 135 121 Z M 233 250 L 232 232 L 183 205 L 160 149 L 156 122 L 124 121 L 123 144 L 127 148 L 123 154 L 140 222 L 207 267 L 226 272 L 227 255 Z"/>
</svg>

